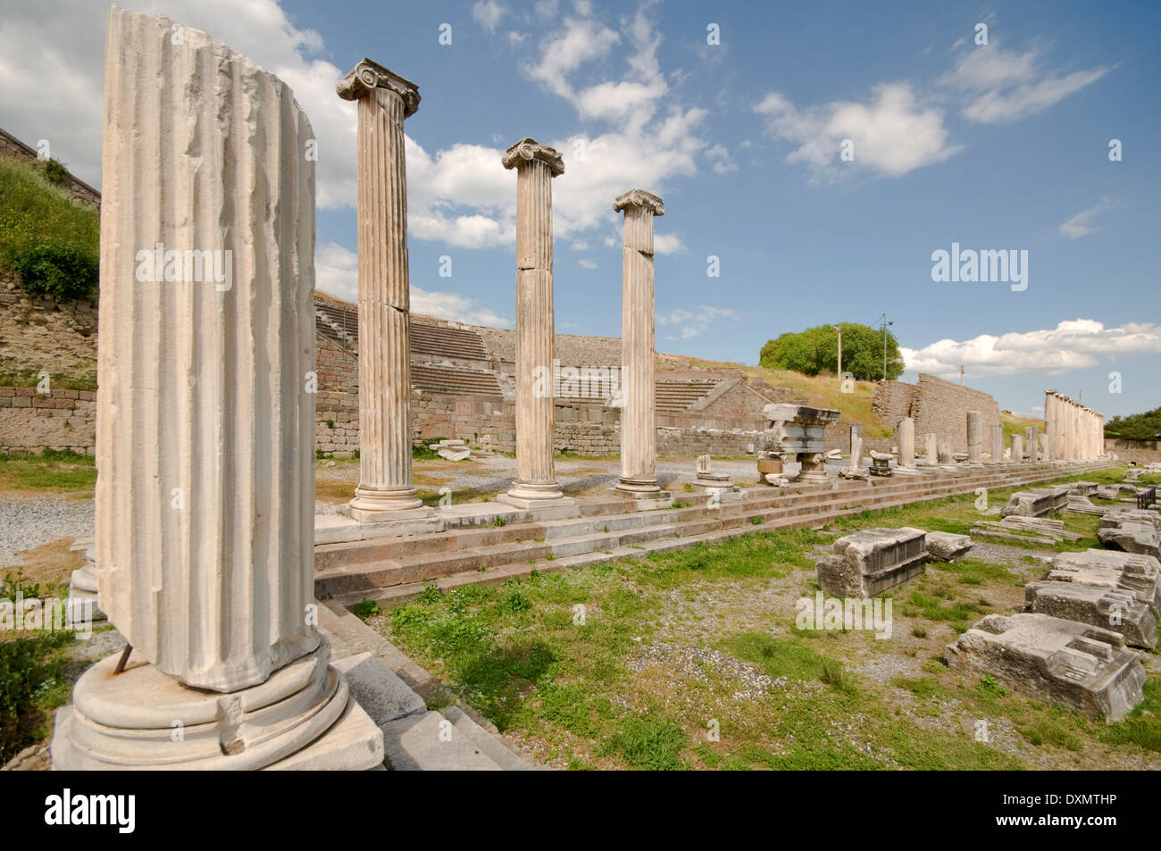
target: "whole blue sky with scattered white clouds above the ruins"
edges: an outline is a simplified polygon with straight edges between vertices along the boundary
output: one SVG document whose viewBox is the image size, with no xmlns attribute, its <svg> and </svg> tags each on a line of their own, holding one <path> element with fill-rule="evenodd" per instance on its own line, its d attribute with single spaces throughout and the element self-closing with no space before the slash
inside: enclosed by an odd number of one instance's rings
<svg viewBox="0 0 1161 851">
<path fill-rule="evenodd" d="M 640 187 L 665 201 L 661 351 L 752 363 L 784 331 L 886 311 L 909 366 L 958 380 L 962 363 L 1001 408 L 1039 416 L 1045 388 L 1106 416 L 1161 404 L 1161 5 L 123 5 L 204 29 L 295 89 L 320 144 L 327 291 L 355 291 L 354 111 L 333 84 L 367 56 L 423 96 L 406 123 L 416 310 L 511 323 L 515 178 L 499 152 L 532 136 L 565 161 L 561 332 L 619 334 L 612 201 Z M 104 9 L 21 2 L 0 24 L 0 125 L 53 140 L 94 183 Z M 63 55 L 86 81 L 44 79 Z M 1026 289 L 932 281 L 932 252 L 953 243 L 1026 251 Z"/>
</svg>

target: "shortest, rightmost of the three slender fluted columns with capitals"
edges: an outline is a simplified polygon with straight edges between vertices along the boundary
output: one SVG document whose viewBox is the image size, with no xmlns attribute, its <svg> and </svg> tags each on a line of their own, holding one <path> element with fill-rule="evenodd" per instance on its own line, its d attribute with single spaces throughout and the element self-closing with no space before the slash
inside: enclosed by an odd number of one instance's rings
<svg viewBox="0 0 1161 851">
<path fill-rule="evenodd" d="M 657 413 L 654 396 L 654 216 L 665 214 L 661 199 L 633 189 L 613 202 L 625 211 L 621 260 L 621 479 L 620 493 L 659 497 Z M 669 496 L 668 493 L 664 496 Z"/>
</svg>

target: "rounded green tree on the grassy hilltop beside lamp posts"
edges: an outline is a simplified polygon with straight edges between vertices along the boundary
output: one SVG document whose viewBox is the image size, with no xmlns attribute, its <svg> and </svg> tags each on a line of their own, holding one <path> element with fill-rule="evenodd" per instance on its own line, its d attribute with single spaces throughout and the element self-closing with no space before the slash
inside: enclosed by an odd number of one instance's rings
<svg viewBox="0 0 1161 851">
<path fill-rule="evenodd" d="M 882 378 L 882 330 L 853 322 L 841 322 L 843 330 L 843 372 L 860 381 Z M 769 369 L 793 369 L 803 375 L 829 370 L 838 373 L 838 334 L 834 325 L 816 325 L 798 333 L 787 332 L 762 347 L 759 361 Z M 887 332 L 887 377 L 903 373 L 903 355 L 895 336 Z"/>
</svg>

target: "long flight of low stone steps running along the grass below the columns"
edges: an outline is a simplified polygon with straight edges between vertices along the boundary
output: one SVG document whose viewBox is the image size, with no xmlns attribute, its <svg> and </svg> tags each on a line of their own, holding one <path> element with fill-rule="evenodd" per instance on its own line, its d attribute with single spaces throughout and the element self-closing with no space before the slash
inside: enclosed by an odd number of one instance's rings
<svg viewBox="0 0 1161 851">
<path fill-rule="evenodd" d="M 434 582 L 447 592 L 474 583 L 497 584 L 533 570 L 643 556 L 714 542 L 757 529 L 823 526 L 866 509 L 889 509 L 969 493 L 976 488 L 1016 488 L 1109 466 L 1027 463 L 926 470 L 916 476 L 821 485 L 755 488 L 744 499 L 711 506 L 700 495 L 677 493 L 684 507 L 633 511 L 616 497 L 585 498 L 571 509 L 511 512 L 503 526 L 485 509 L 464 526 L 408 538 L 370 538 L 315 547 L 315 593 L 352 606 L 365 597 L 383 607 L 413 599 Z M 921 468 L 922 469 L 922 468 Z M 497 506 L 496 517 L 504 517 Z"/>
</svg>

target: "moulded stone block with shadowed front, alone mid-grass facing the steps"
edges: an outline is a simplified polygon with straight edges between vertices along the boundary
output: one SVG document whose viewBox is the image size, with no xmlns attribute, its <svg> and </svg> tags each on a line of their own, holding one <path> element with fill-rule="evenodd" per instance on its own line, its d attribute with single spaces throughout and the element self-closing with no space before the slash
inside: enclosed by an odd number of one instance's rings
<svg viewBox="0 0 1161 851">
<path fill-rule="evenodd" d="M 834 554 L 817 562 L 819 587 L 836 597 L 874 597 L 922 574 L 926 561 L 923 529 L 863 529 L 839 538 Z"/>
</svg>

